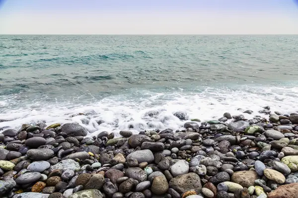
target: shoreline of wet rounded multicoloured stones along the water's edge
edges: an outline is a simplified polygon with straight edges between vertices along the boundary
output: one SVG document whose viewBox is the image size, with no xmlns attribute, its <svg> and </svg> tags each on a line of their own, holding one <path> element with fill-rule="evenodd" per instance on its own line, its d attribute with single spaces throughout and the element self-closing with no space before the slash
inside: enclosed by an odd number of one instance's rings
<svg viewBox="0 0 298 198">
<path fill-rule="evenodd" d="M 6 129 L 0 197 L 298 198 L 298 113 L 261 113 L 121 138 L 76 123 Z"/>
</svg>

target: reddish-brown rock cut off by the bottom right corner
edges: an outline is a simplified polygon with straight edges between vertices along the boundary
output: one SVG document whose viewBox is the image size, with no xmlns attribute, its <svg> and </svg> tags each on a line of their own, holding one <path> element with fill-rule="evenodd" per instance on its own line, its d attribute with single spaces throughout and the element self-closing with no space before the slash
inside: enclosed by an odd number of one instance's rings
<svg viewBox="0 0 298 198">
<path fill-rule="evenodd" d="M 287 184 L 278 187 L 268 194 L 268 198 L 297 198 L 298 183 Z"/>
</svg>

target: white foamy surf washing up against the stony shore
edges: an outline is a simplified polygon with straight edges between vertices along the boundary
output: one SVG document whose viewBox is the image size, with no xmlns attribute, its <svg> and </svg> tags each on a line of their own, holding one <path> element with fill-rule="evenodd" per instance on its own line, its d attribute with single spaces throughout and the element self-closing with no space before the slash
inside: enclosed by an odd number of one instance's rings
<svg viewBox="0 0 298 198">
<path fill-rule="evenodd" d="M 44 120 L 47 125 L 57 122 L 77 122 L 90 132 L 89 136 L 102 131 L 114 132 L 117 136 L 121 130 L 131 130 L 134 133 L 156 128 L 177 130 L 186 122 L 173 115 L 177 111 L 187 113 L 189 119 L 199 118 L 207 121 L 220 118 L 224 112 L 230 112 L 232 115 L 243 114 L 241 110 L 237 110 L 242 108 L 253 111 L 252 115 L 244 114 L 250 119 L 254 115 L 259 115 L 258 111 L 267 105 L 271 107 L 272 112 L 296 112 L 297 94 L 298 88 L 295 87 L 241 87 L 234 90 L 206 88 L 203 92 L 196 90 L 193 93 L 138 92 L 138 95 L 119 95 L 85 104 L 34 101 L 33 104 L 17 107 L 13 101 L 9 104 L 7 101 L 0 101 L 6 106 L 10 105 L 9 108 L 2 109 L 0 120 L 11 120 L 0 122 L 0 128 L 9 126 L 18 129 L 23 123 Z M 154 110 L 159 114 L 154 117 L 145 116 L 147 112 Z M 77 115 L 89 112 L 90 115 Z M 89 123 L 84 124 L 83 118 L 90 119 Z M 98 125 L 96 122 L 98 120 L 104 123 Z M 130 129 L 130 126 L 134 128 Z"/>
</svg>

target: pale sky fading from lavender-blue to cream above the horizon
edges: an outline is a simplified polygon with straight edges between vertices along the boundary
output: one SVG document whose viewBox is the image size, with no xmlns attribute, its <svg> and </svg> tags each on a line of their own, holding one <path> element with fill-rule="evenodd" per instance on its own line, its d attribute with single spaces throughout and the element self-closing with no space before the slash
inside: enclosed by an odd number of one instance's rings
<svg viewBox="0 0 298 198">
<path fill-rule="evenodd" d="M 0 0 L 0 34 L 298 34 L 298 0 Z"/>
</svg>

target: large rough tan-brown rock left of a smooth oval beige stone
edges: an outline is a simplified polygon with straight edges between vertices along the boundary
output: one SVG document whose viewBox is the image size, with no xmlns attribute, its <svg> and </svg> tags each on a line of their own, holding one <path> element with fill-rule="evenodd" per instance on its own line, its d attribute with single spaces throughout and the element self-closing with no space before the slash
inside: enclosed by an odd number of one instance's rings
<svg viewBox="0 0 298 198">
<path fill-rule="evenodd" d="M 231 182 L 240 184 L 244 188 L 254 186 L 254 181 L 259 179 L 255 171 L 238 171 L 234 172 L 231 177 Z"/>
</svg>

